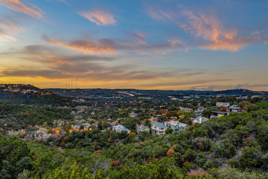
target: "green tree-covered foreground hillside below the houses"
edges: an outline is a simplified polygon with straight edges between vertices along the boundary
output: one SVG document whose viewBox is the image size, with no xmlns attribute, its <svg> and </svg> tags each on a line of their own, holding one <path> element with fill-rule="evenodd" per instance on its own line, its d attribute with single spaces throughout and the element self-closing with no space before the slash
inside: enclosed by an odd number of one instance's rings
<svg viewBox="0 0 268 179">
<path fill-rule="evenodd" d="M 164 136 L 92 128 L 40 143 L 1 135 L 1 177 L 268 178 L 267 108 L 262 102 Z"/>
</svg>

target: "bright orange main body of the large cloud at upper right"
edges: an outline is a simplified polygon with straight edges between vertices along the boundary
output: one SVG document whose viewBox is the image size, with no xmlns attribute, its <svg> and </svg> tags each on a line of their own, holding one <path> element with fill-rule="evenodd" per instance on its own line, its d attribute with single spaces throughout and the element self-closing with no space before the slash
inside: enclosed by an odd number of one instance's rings
<svg viewBox="0 0 268 179">
<path fill-rule="evenodd" d="M 260 35 L 242 36 L 235 29 L 226 30 L 215 15 L 195 14 L 190 10 L 182 13 L 189 21 L 180 24 L 180 28 L 208 41 L 198 45 L 200 49 L 238 51 L 250 43 L 262 41 Z"/>
</svg>

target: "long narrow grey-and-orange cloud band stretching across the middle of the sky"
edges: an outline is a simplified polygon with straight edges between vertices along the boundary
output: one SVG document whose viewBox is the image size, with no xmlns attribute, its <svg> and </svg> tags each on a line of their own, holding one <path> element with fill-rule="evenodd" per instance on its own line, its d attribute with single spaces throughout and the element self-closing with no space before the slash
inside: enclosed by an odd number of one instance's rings
<svg viewBox="0 0 268 179">
<path fill-rule="evenodd" d="M 83 39 L 83 40 L 74 40 L 64 42 L 63 40 L 58 40 L 50 38 L 49 36 L 43 35 L 43 39 L 51 44 L 62 46 L 67 49 L 77 50 L 79 52 L 87 54 L 116 54 L 117 51 L 136 51 L 136 52 L 147 52 L 147 53 L 162 53 L 171 52 L 174 50 L 182 49 L 183 45 L 179 41 L 173 42 L 170 40 L 170 43 L 155 43 L 155 44 L 145 44 L 143 42 L 143 37 L 139 33 L 131 34 L 134 39 L 140 39 L 139 43 L 129 41 L 128 38 L 125 39 Z M 145 42 L 145 41 L 144 41 Z M 142 44 L 141 44 L 142 43 Z"/>
</svg>

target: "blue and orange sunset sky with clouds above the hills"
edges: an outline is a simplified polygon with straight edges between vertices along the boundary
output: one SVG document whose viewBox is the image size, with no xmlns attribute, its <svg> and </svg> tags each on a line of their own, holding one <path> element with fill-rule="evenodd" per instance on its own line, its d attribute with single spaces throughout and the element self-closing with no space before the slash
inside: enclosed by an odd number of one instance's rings
<svg viewBox="0 0 268 179">
<path fill-rule="evenodd" d="M 0 83 L 268 91 L 267 9 L 267 0 L 0 0 Z"/>
</svg>

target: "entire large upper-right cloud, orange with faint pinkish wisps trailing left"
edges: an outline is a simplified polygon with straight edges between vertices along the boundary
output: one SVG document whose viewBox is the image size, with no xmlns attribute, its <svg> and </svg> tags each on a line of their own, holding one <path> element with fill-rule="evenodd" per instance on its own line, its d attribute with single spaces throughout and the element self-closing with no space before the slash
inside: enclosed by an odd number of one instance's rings
<svg viewBox="0 0 268 179">
<path fill-rule="evenodd" d="M 153 19 L 171 21 L 185 32 L 194 35 L 195 39 L 187 42 L 189 47 L 236 52 L 252 43 L 266 43 L 268 39 L 260 35 L 260 31 L 241 35 L 237 28 L 224 25 L 214 13 L 193 12 L 181 4 L 174 9 L 159 8 L 157 5 L 146 6 L 148 15 Z"/>
</svg>

